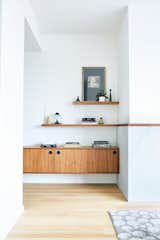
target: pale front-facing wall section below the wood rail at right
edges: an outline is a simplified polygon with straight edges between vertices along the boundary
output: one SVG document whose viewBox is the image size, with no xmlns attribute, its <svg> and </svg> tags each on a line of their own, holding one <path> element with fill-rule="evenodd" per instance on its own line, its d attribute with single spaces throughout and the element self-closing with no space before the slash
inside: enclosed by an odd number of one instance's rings
<svg viewBox="0 0 160 240">
<path fill-rule="evenodd" d="M 129 127 L 128 200 L 160 201 L 160 128 Z"/>
</svg>

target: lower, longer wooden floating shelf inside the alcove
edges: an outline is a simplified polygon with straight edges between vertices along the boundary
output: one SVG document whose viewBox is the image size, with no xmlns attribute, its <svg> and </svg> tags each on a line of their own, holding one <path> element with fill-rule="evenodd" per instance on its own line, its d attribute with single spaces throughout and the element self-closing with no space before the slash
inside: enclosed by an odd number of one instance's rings
<svg viewBox="0 0 160 240">
<path fill-rule="evenodd" d="M 66 124 L 42 124 L 42 127 L 117 127 L 119 124 L 80 124 L 80 123 L 66 123 Z"/>
</svg>

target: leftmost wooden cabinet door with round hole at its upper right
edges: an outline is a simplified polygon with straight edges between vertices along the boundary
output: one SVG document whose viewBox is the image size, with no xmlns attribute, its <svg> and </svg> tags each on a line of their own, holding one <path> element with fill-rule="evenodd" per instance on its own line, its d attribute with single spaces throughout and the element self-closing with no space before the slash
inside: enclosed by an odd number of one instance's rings
<svg viewBox="0 0 160 240">
<path fill-rule="evenodd" d="M 24 149 L 24 173 L 51 173 L 54 171 L 54 150 Z"/>
</svg>

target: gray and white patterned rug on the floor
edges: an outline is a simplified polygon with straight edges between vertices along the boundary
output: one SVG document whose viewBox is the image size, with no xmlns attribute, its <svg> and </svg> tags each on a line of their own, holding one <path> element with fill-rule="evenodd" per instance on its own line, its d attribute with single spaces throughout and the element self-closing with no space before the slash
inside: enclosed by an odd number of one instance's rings
<svg viewBox="0 0 160 240">
<path fill-rule="evenodd" d="M 109 211 L 119 240 L 160 240 L 160 211 Z"/>
</svg>

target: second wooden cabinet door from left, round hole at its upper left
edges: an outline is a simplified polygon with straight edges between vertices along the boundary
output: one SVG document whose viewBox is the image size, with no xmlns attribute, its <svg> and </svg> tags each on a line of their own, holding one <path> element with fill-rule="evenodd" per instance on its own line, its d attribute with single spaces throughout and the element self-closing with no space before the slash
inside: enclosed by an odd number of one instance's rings
<svg viewBox="0 0 160 240">
<path fill-rule="evenodd" d="M 55 152 L 55 172 L 86 173 L 87 159 L 85 150 L 62 149 Z"/>
</svg>

